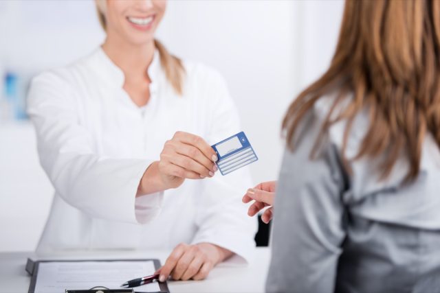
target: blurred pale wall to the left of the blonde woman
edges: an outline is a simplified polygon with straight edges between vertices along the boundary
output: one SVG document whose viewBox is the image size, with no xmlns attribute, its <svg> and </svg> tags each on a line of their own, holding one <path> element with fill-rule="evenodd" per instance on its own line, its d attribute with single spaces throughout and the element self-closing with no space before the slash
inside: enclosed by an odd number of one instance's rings
<svg viewBox="0 0 440 293">
<path fill-rule="evenodd" d="M 88 54 L 103 37 L 91 1 L 0 1 L 0 75 L 14 71 L 29 80 L 39 71 Z M 52 194 L 39 165 L 32 126 L 2 121 L 0 251 L 35 248 Z"/>
</svg>

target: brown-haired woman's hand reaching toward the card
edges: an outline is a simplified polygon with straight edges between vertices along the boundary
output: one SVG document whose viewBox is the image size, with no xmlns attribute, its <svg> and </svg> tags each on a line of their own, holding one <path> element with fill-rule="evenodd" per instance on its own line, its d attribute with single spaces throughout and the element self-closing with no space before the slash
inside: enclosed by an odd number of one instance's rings
<svg viewBox="0 0 440 293">
<path fill-rule="evenodd" d="M 274 215 L 272 206 L 275 199 L 275 188 L 276 181 L 268 181 L 260 183 L 254 188 L 248 189 L 248 192 L 242 199 L 244 203 L 254 200 L 248 209 L 248 215 L 252 217 L 265 207 L 270 207 L 264 211 L 263 215 L 261 215 L 261 220 L 266 224 L 269 223 Z"/>
</svg>

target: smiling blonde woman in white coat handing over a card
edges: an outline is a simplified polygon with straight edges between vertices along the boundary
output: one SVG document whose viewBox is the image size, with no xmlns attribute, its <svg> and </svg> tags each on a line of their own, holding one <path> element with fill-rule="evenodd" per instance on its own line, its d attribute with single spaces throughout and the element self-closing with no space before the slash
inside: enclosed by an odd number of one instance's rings
<svg viewBox="0 0 440 293">
<path fill-rule="evenodd" d="M 214 176 L 210 147 L 240 130 L 225 81 L 155 40 L 166 1 L 96 4 L 102 46 L 30 89 L 41 165 L 56 191 L 37 250 L 168 249 L 160 281 L 203 279 L 234 255 L 248 260 L 256 222 L 239 201 L 250 173 Z"/>
</svg>

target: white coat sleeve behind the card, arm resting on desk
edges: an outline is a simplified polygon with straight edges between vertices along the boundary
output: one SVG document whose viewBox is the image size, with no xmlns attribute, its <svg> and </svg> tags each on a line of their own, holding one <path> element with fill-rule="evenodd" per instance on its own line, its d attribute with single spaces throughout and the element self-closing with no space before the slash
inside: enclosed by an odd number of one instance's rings
<svg viewBox="0 0 440 293">
<path fill-rule="evenodd" d="M 240 132 L 239 115 L 228 93 L 225 81 L 217 72 L 210 72 L 206 96 L 210 99 L 210 121 L 207 140 L 217 143 Z M 192 243 L 210 242 L 235 253 L 231 261 L 246 263 L 254 254 L 254 237 L 258 222 L 250 218 L 241 202 L 246 190 L 253 187 L 248 167 L 226 176 L 216 172 L 203 180 L 201 202 L 196 216 L 197 234 Z"/>
</svg>

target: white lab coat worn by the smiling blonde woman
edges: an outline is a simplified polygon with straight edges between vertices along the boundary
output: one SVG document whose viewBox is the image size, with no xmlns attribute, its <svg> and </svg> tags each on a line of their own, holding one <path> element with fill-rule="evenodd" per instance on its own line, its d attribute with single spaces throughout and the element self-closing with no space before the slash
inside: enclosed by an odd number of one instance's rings
<svg viewBox="0 0 440 293">
<path fill-rule="evenodd" d="M 219 73 L 184 62 L 179 96 L 158 55 L 148 68 L 151 99 L 144 108 L 122 89 L 124 74 L 100 48 L 32 80 L 28 113 L 41 165 L 56 190 L 37 251 L 210 242 L 232 250 L 237 260 L 252 256 L 256 219 L 241 203 L 252 186 L 247 168 L 135 198 L 146 167 L 177 130 L 210 144 L 241 130 Z"/>
</svg>

